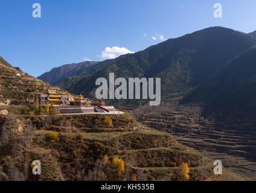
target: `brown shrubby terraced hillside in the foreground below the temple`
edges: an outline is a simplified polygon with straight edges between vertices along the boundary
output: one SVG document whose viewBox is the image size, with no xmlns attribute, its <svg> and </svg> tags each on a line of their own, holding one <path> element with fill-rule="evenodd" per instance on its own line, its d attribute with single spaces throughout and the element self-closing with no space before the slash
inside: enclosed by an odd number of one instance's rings
<svg viewBox="0 0 256 193">
<path fill-rule="evenodd" d="M 123 158 L 127 180 L 134 175 L 171 180 L 182 162 L 188 163 L 190 180 L 213 176 L 209 160 L 171 134 L 145 127 L 130 115 L 111 119 L 112 123 L 104 121 L 104 115 L 19 116 L 13 122 L 18 132 L 1 148 L 2 172 L 8 175 L 10 163 L 24 171 L 26 163 L 38 159 L 43 174 L 35 177 L 28 172 L 25 180 L 85 180 L 89 169 L 107 154 L 109 159 Z M 49 139 L 53 132 L 57 137 Z"/>
</svg>

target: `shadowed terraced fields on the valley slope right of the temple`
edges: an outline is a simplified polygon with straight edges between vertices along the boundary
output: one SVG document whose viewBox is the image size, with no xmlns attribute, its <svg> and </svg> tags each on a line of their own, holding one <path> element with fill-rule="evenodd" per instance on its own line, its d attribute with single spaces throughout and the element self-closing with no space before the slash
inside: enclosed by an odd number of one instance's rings
<svg viewBox="0 0 256 193">
<path fill-rule="evenodd" d="M 167 131 L 188 147 L 243 176 L 256 177 L 256 128 L 243 120 L 209 121 L 200 116 L 198 107 L 120 107 L 143 124 Z M 150 113 L 149 113 L 150 112 Z M 225 122 L 224 122 L 225 121 Z"/>
</svg>

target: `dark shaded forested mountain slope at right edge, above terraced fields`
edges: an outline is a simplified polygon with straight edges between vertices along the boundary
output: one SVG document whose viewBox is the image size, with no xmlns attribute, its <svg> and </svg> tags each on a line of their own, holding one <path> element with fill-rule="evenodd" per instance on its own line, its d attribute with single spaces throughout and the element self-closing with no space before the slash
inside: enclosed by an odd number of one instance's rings
<svg viewBox="0 0 256 193">
<path fill-rule="evenodd" d="M 209 111 L 239 116 L 256 114 L 256 46 L 231 60 L 217 75 L 197 87 L 184 101 L 205 104 Z"/>
</svg>

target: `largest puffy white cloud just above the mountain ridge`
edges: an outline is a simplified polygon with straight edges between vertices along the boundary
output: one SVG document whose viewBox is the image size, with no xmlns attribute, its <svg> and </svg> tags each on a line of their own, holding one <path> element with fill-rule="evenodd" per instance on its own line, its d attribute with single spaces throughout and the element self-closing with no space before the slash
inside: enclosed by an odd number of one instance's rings
<svg viewBox="0 0 256 193">
<path fill-rule="evenodd" d="M 101 52 L 100 57 L 103 59 L 115 59 L 120 55 L 133 54 L 134 52 L 126 48 L 119 48 L 118 46 L 113 46 L 112 48 L 106 47 L 104 51 Z"/>
</svg>

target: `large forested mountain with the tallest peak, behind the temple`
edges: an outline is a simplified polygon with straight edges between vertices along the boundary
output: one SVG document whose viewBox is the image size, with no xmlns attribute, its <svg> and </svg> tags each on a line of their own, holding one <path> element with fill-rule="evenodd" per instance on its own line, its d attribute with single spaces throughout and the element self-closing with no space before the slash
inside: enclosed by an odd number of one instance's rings
<svg viewBox="0 0 256 193">
<path fill-rule="evenodd" d="M 228 62 L 254 44 L 255 40 L 245 33 L 223 27 L 206 28 L 135 54 L 98 63 L 105 67 L 66 89 L 95 98 L 95 80 L 99 77 L 108 80 L 109 72 L 124 78 L 161 77 L 162 101 L 171 101 L 188 95 L 208 78 L 222 72 Z"/>
</svg>

